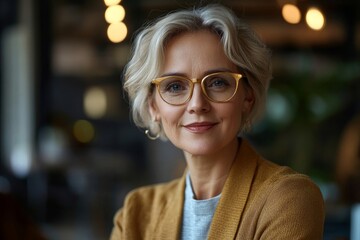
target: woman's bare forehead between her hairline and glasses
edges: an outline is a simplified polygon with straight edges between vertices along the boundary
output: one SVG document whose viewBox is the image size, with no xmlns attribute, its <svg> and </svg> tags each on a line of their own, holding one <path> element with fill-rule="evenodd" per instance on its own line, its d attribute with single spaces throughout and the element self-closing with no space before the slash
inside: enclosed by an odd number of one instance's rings
<svg viewBox="0 0 360 240">
<path fill-rule="evenodd" d="M 220 68 L 236 71 L 235 64 L 225 55 L 220 37 L 213 32 L 180 33 L 166 45 L 162 73 L 179 72 L 196 77 Z"/>
</svg>

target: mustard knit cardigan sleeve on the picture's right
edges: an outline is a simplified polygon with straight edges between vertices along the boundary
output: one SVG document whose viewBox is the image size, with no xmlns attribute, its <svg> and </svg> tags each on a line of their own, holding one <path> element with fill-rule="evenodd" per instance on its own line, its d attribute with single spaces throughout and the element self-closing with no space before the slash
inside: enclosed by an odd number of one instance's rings
<svg viewBox="0 0 360 240">
<path fill-rule="evenodd" d="M 264 194 L 254 239 L 322 239 L 324 202 L 321 192 L 303 175 L 279 179 Z"/>
</svg>

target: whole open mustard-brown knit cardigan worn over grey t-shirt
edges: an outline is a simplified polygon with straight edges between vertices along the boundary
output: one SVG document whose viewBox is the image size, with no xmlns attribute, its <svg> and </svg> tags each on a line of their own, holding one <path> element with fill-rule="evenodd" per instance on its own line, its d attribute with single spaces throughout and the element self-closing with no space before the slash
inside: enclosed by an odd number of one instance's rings
<svg viewBox="0 0 360 240">
<path fill-rule="evenodd" d="M 309 177 L 263 159 L 245 140 L 221 193 L 208 239 L 322 239 L 324 202 Z M 111 240 L 180 239 L 185 175 L 129 193 Z"/>
</svg>

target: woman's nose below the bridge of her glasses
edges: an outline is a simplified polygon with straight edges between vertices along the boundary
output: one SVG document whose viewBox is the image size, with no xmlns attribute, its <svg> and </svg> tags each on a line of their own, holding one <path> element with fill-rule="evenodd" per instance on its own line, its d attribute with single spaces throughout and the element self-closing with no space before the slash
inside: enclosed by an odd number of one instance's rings
<svg viewBox="0 0 360 240">
<path fill-rule="evenodd" d="M 190 101 L 187 104 L 187 110 L 190 113 L 202 113 L 210 110 L 209 100 L 202 92 L 201 85 L 199 83 L 194 84 L 194 90 Z"/>
</svg>

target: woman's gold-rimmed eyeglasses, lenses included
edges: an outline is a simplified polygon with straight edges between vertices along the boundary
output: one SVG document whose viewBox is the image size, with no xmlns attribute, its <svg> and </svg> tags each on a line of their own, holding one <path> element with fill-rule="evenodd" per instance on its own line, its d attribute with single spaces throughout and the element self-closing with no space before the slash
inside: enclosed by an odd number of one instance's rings
<svg viewBox="0 0 360 240">
<path fill-rule="evenodd" d="M 154 79 L 160 97 L 170 105 L 182 105 L 191 99 L 195 83 L 201 84 L 205 97 L 212 102 L 230 101 L 239 86 L 239 80 L 245 78 L 240 73 L 217 72 L 203 79 L 189 79 L 182 76 L 165 76 Z"/>
</svg>

